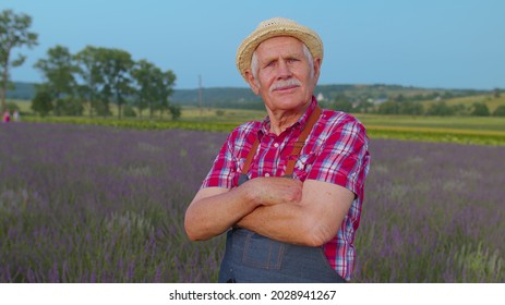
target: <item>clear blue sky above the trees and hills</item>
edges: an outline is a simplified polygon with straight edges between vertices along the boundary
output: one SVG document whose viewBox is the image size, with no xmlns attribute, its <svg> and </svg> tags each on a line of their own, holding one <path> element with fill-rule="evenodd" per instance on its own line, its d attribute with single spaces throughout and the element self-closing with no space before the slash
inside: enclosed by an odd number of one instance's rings
<svg viewBox="0 0 505 305">
<path fill-rule="evenodd" d="M 33 64 L 49 48 L 119 48 L 177 75 L 176 88 L 247 86 L 237 47 L 257 24 L 284 16 L 316 30 L 320 84 L 505 88 L 502 0 L 2 0 L 39 34 L 11 80 L 40 82 Z"/>
</svg>

